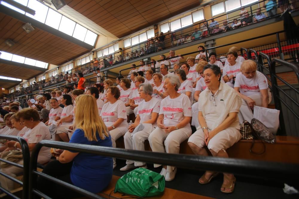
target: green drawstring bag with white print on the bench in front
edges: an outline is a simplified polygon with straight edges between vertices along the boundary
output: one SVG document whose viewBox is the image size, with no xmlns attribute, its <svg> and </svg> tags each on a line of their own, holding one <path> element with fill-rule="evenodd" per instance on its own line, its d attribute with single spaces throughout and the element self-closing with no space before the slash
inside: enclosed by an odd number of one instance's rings
<svg viewBox="0 0 299 199">
<path fill-rule="evenodd" d="M 163 175 L 149 169 L 138 168 L 118 179 L 114 193 L 149 197 L 163 193 L 164 188 L 165 179 Z"/>
</svg>

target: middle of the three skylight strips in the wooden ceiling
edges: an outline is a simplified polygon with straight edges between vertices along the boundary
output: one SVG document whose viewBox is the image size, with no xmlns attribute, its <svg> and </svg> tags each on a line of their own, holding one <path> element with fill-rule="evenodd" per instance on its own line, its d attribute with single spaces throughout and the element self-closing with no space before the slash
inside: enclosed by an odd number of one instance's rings
<svg viewBox="0 0 299 199">
<path fill-rule="evenodd" d="M 40 68 L 47 68 L 47 66 L 48 66 L 47 63 L 42 62 L 42 61 L 37 61 L 35 59 L 22 57 L 20 55 L 14 55 L 14 54 L 7 53 L 7 52 L 4 52 L 4 51 L 0 51 L 0 53 L 1 53 L 1 55 L 0 55 L 1 59 L 6 59 L 6 60 L 9 60 L 9 61 L 15 61 L 15 62 L 18 62 L 18 63 L 21 63 L 21 64 L 28 64 L 28 65 L 36 66 L 36 67 L 40 67 Z"/>
</svg>

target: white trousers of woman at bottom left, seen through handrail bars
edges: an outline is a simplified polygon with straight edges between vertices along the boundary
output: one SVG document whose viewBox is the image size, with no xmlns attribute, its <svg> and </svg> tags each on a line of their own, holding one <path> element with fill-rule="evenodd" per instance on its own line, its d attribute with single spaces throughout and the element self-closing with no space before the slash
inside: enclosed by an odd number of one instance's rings
<svg viewBox="0 0 299 199">
<path fill-rule="evenodd" d="M 23 160 L 20 160 L 16 163 L 23 165 Z M 16 167 L 16 166 L 7 166 L 7 167 L 4 167 L 4 168 L 1 168 L 0 171 L 3 172 L 3 173 L 6 173 L 7 175 L 10 175 L 13 178 L 16 178 L 17 175 L 22 174 L 23 168 Z M 14 182 L 12 180 L 4 177 L 3 175 L 0 175 L 0 182 L 1 182 L 1 186 L 4 189 L 13 190 L 13 183 Z"/>
</svg>

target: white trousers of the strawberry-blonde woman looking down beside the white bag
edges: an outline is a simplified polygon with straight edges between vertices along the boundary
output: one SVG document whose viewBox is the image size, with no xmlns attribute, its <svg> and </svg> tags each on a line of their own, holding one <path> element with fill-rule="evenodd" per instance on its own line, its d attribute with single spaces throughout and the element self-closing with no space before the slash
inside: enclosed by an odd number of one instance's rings
<svg viewBox="0 0 299 199">
<path fill-rule="evenodd" d="M 249 98 L 255 101 L 255 105 L 260 107 L 262 106 L 262 95 L 260 93 L 256 93 L 253 95 L 248 95 Z M 239 113 L 239 123 L 242 124 L 244 120 L 247 120 L 249 123 L 253 118 L 252 109 L 248 106 L 247 102 L 242 99 L 242 105 L 240 107 Z"/>
</svg>

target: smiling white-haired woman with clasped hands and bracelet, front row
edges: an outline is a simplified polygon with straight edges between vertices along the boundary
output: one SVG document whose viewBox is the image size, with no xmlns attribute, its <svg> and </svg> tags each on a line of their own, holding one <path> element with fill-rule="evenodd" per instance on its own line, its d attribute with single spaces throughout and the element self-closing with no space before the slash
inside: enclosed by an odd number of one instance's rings
<svg viewBox="0 0 299 199">
<path fill-rule="evenodd" d="M 164 90 L 169 95 L 161 101 L 158 127 L 149 135 L 153 152 L 179 153 L 180 144 L 191 135 L 191 104 L 187 95 L 178 92 L 181 82 L 177 75 L 165 75 Z M 165 144 L 165 148 L 163 146 Z M 154 167 L 161 166 L 154 164 Z M 172 181 L 176 167 L 163 165 L 160 172 L 166 181 Z"/>
</svg>

